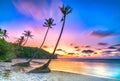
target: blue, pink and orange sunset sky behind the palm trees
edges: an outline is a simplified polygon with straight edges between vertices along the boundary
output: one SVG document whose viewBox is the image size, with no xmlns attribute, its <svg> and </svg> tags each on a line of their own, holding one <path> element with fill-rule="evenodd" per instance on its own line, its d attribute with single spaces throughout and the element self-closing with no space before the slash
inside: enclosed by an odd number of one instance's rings
<svg viewBox="0 0 120 81">
<path fill-rule="evenodd" d="M 8 31 L 6 40 L 15 42 L 24 30 L 32 32 L 26 46 L 39 47 L 47 30 L 45 19 L 52 17 L 43 49 L 52 52 L 62 22 L 59 7 L 69 5 L 65 29 L 57 54 L 84 58 L 120 58 L 120 0 L 0 0 L 0 28 Z"/>
</svg>

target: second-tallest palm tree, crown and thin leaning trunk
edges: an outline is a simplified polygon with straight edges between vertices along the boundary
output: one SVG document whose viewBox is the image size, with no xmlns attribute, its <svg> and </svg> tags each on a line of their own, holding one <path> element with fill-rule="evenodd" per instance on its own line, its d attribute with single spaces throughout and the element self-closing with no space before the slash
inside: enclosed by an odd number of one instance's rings
<svg viewBox="0 0 120 81">
<path fill-rule="evenodd" d="M 45 43 L 45 40 L 46 40 L 46 37 L 48 35 L 48 32 L 49 32 L 49 29 L 52 28 L 52 26 L 55 26 L 56 24 L 53 23 L 54 22 L 54 19 L 53 18 L 48 18 L 48 19 L 45 19 L 45 22 L 43 24 L 44 27 L 47 27 L 47 31 L 45 33 L 45 36 L 44 36 L 44 40 L 41 44 L 41 46 L 39 47 L 40 49 L 42 48 L 42 46 L 44 45 Z M 39 51 L 39 49 L 38 49 Z M 32 59 L 38 54 L 38 51 L 36 51 L 33 55 L 33 57 L 28 61 L 28 63 L 30 63 L 32 61 Z"/>
</svg>

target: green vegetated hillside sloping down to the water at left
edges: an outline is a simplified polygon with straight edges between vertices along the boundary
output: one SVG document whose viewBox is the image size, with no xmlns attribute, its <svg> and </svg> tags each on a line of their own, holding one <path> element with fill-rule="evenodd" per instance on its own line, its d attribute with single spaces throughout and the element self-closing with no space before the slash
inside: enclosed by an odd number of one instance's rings
<svg viewBox="0 0 120 81">
<path fill-rule="evenodd" d="M 0 39 L 0 61 L 11 61 L 13 58 L 30 59 L 36 50 L 38 50 L 36 59 L 49 59 L 53 56 L 43 49 L 19 46 L 19 44 L 8 43 L 4 39 Z"/>
</svg>

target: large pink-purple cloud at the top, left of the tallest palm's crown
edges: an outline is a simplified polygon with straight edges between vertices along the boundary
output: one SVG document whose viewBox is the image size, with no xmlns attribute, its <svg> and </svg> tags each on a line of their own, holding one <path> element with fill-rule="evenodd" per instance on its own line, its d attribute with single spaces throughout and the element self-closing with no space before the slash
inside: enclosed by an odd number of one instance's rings
<svg viewBox="0 0 120 81">
<path fill-rule="evenodd" d="M 23 15 L 40 20 L 55 15 L 61 0 L 13 0 L 13 4 Z"/>
</svg>

